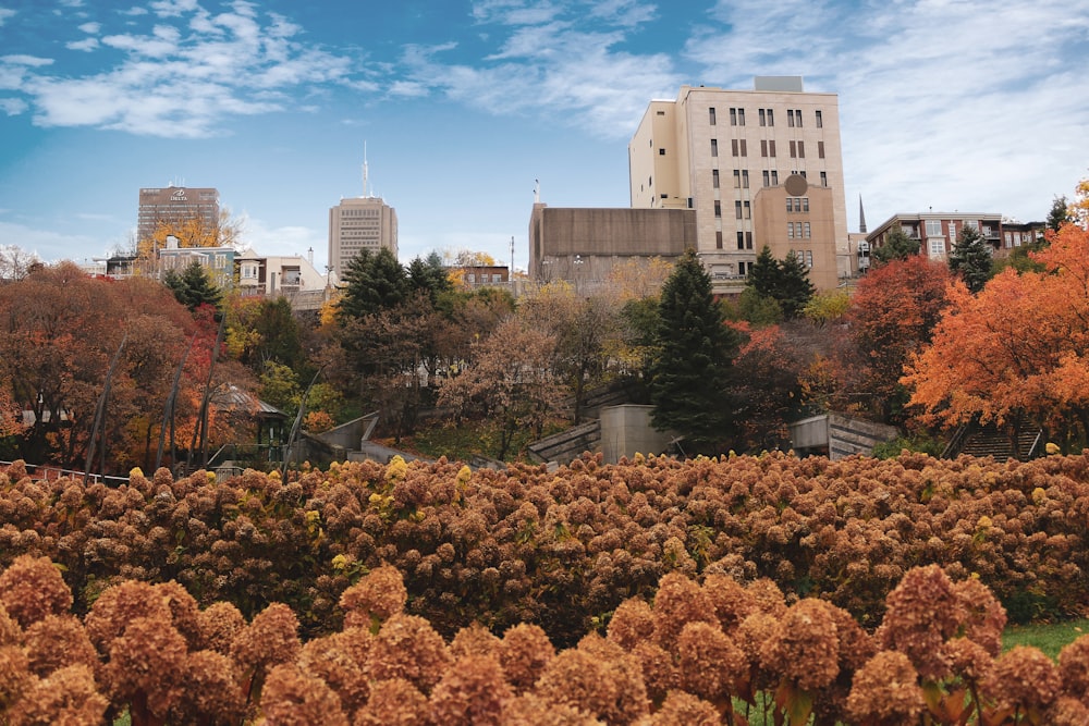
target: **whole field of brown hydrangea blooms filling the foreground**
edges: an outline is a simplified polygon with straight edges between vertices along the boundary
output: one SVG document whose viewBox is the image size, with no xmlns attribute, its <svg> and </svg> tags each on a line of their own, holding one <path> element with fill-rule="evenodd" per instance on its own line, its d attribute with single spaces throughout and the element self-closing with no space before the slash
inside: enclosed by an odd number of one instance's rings
<svg viewBox="0 0 1089 726">
<path fill-rule="evenodd" d="M 1089 723 L 1089 639 L 999 654 L 1082 612 L 1089 455 L 16 463 L 0 522 L 11 724 Z"/>
</svg>

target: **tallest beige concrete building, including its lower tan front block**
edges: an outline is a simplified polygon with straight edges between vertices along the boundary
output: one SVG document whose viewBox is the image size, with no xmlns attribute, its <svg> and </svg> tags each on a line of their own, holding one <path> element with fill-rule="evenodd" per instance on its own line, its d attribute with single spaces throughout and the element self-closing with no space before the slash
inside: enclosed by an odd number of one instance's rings
<svg viewBox="0 0 1089 726">
<path fill-rule="evenodd" d="M 764 245 L 798 253 L 819 290 L 849 273 L 837 262 L 848 237 L 835 94 L 806 93 L 799 76 L 682 86 L 650 102 L 628 163 L 632 207 L 695 211 L 715 292 L 738 292 Z"/>
</svg>

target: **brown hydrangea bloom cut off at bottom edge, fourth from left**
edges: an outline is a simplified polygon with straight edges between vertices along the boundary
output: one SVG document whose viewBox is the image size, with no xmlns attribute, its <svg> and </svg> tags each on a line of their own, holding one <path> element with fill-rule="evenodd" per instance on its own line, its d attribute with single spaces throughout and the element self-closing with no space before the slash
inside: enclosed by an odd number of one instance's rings
<svg viewBox="0 0 1089 726">
<path fill-rule="evenodd" d="M 340 699 L 320 678 L 303 673 L 294 664 L 269 670 L 261 691 L 262 726 L 348 726 Z"/>
</svg>

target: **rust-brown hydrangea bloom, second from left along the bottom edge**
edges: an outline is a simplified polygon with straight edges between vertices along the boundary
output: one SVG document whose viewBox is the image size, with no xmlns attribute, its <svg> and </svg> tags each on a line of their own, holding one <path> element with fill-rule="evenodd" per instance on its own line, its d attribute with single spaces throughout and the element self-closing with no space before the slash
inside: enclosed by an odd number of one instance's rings
<svg viewBox="0 0 1089 726">
<path fill-rule="evenodd" d="M 110 700 L 119 707 L 130 704 L 134 713 L 164 717 L 181 696 L 185 655 L 185 639 L 169 620 L 136 618 L 110 643 L 103 677 Z"/>
</svg>

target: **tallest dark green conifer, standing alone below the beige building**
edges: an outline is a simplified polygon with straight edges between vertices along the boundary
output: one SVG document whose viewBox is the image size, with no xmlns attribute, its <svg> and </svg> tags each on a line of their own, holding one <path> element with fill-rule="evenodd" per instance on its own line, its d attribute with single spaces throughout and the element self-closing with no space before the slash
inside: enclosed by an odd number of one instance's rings
<svg viewBox="0 0 1089 726">
<path fill-rule="evenodd" d="M 689 249 L 662 287 L 648 376 L 654 428 L 675 431 L 686 452 L 714 453 L 732 431 L 732 360 L 738 334 L 723 324 L 711 278 Z"/>
</svg>

